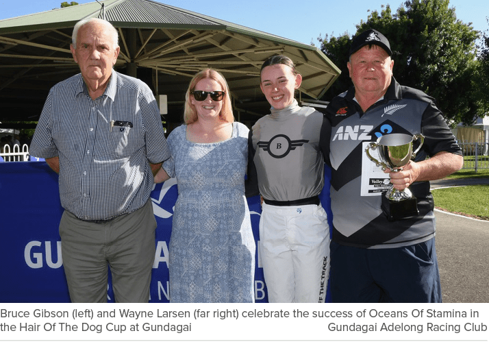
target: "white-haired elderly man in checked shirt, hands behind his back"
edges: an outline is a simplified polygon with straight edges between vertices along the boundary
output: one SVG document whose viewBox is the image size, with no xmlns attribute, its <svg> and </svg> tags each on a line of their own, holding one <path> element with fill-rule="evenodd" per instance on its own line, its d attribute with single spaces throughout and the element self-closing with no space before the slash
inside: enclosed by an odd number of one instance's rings
<svg viewBox="0 0 489 342">
<path fill-rule="evenodd" d="M 116 29 L 79 21 L 71 52 L 81 73 L 51 88 L 31 145 L 59 173 L 62 256 L 72 302 L 148 302 L 156 221 L 153 175 L 169 158 L 149 87 L 112 70 Z"/>
</svg>

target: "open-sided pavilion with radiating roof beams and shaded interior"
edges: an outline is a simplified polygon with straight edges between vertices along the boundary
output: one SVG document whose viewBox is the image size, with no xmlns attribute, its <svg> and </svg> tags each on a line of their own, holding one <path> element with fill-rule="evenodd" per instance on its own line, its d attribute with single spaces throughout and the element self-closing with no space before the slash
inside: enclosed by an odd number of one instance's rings
<svg viewBox="0 0 489 342">
<path fill-rule="evenodd" d="M 259 77 L 269 56 L 281 53 L 297 64 L 299 101 L 320 98 L 340 73 L 311 45 L 151 0 L 105 0 L 0 21 L 0 122 L 37 121 L 49 88 L 79 73 L 71 33 L 90 17 L 118 29 L 114 69 L 146 82 L 157 99 L 166 95 L 163 120 L 170 130 L 182 121 L 191 77 L 207 67 L 223 73 L 235 117 L 247 125 L 269 113 Z"/>
</svg>

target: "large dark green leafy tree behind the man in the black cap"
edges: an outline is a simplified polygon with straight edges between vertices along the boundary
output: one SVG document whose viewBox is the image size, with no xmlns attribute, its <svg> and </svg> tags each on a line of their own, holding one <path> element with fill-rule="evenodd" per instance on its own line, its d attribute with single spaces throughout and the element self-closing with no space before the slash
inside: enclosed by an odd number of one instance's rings
<svg viewBox="0 0 489 342">
<path fill-rule="evenodd" d="M 487 105 L 478 95 L 478 79 L 473 77 L 481 73 L 475 44 L 479 32 L 471 23 L 457 20 L 449 0 L 408 0 L 395 13 L 389 5 L 382 6 L 380 13 L 371 12 L 367 21 L 356 27 L 356 34 L 374 28 L 388 38 L 396 80 L 434 97 L 447 119 L 470 123 L 484 115 Z M 346 66 L 351 37 L 345 33 L 320 41 L 323 52 L 342 69 L 323 98 L 328 100 L 352 85 Z"/>
</svg>

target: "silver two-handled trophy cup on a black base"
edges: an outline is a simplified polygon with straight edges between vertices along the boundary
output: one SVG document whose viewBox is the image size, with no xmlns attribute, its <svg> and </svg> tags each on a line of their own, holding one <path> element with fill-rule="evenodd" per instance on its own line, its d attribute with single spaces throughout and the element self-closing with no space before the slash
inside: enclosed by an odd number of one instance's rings
<svg viewBox="0 0 489 342">
<path fill-rule="evenodd" d="M 412 149 L 413 141 L 420 141 L 416 151 Z M 365 149 L 365 153 L 370 160 L 375 162 L 377 166 L 382 167 L 382 170 L 391 169 L 392 172 L 399 172 L 408 164 L 411 158 L 416 156 L 416 153 L 421 149 L 425 137 L 423 134 L 387 134 L 377 139 L 377 143 L 370 143 Z M 377 149 L 379 152 L 379 160 L 373 158 L 370 154 L 371 149 Z M 413 197 L 409 188 L 399 190 L 390 186 L 386 193 L 386 197 L 390 202 L 389 207 L 384 212 L 390 220 L 412 217 L 418 212 L 416 198 Z M 396 204 L 398 202 L 403 202 Z"/>
</svg>

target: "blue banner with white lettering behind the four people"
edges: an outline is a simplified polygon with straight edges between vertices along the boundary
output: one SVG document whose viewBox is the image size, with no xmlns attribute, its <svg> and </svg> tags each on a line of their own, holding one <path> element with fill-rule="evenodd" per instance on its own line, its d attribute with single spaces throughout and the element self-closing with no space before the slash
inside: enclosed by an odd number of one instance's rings
<svg viewBox="0 0 489 342">
<path fill-rule="evenodd" d="M 326 169 L 327 180 L 330 174 Z M 329 181 L 325 183 L 321 202 L 331 226 Z M 151 193 L 158 228 L 149 302 L 168 302 L 168 244 L 177 195 L 175 179 L 155 184 Z M 253 234 L 258 241 L 260 197 L 249 198 L 248 205 Z M 62 212 L 58 175 L 46 162 L 0 162 L 0 302 L 70 302 L 58 233 Z M 257 248 L 255 301 L 268 302 L 258 252 Z M 114 302 L 110 284 L 108 302 Z"/>
</svg>

